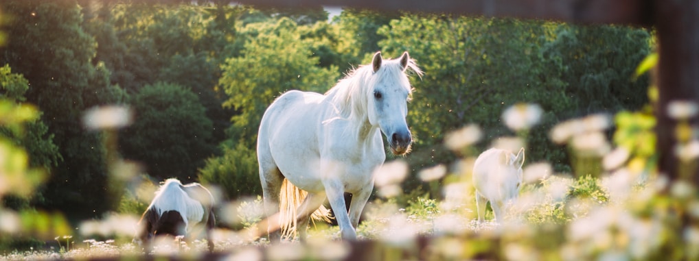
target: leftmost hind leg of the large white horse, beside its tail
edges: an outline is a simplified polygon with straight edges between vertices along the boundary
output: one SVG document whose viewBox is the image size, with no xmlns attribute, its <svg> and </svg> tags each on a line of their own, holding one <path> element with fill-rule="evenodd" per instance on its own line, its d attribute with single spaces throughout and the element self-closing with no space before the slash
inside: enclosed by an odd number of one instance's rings
<svg viewBox="0 0 699 261">
<path fill-rule="evenodd" d="M 262 184 L 262 200 L 264 212 L 267 218 L 267 234 L 269 241 L 278 242 L 281 234 L 279 231 L 279 193 L 282 190 L 284 176 L 272 162 L 259 161 L 260 182 Z"/>
</svg>

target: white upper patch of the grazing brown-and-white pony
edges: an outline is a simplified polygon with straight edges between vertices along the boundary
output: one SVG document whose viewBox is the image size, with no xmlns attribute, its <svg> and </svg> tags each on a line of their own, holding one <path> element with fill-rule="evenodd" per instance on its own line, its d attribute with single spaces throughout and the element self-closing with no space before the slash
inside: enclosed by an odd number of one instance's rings
<svg viewBox="0 0 699 261">
<path fill-rule="evenodd" d="M 187 225 L 188 219 L 204 215 L 202 204 L 189 197 L 184 191 L 184 186 L 178 179 L 167 179 L 165 183 L 155 192 L 153 202 L 148 209 L 152 209 L 160 216 L 164 211 L 174 210 L 180 212 L 182 219 Z"/>
</svg>

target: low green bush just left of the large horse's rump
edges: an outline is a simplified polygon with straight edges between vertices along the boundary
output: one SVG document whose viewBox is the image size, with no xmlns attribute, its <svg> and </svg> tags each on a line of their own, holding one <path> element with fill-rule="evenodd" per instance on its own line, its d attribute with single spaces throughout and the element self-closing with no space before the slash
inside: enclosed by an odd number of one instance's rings
<svg viewBox="0 0 699 261">
<path fill-rule="evenodd" d="M 240 143 L 223 150 L 222 156 L 206 160 L 206 165 L 199 170 L 199 181 L 219 186 L 229 200 L 261 195 L 255 151 Z"/>
</svg>

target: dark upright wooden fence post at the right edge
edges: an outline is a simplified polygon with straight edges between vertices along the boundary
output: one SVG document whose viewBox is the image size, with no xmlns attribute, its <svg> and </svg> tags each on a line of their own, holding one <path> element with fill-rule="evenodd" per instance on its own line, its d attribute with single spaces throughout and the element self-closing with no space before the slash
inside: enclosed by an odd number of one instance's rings
<svg viewBox="0 0 699 261">
<path fill-rule="evenodd" d="M 668 117 L 668 103 L 686 100 L 699 104 L 699 1 L 656 0 L 655 4 L 660 54 L 656 108 L 658 170 L 670 180 L 677 180 L 681 178 L 675 154 L 677 120 Z M 694 115 L 689 122 L 696 125 L 698 119 Z M 699 173 L 695 170 L 692 176 L 689 180 L 699 184 Z"/>
</svg>

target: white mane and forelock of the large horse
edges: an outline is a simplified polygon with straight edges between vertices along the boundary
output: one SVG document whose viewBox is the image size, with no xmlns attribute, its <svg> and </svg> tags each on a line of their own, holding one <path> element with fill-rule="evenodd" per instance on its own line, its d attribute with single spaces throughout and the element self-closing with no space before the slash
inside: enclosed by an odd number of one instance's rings
<svg viewBox="0 0 699 261">
<path fill-rule="evenodd" d="M 408 59 L 406 70 L 411 70 L 417 75 L 422 75 L 422 71 L 415 64 L 414 59 Z M 374 73 L 370 64 L 359 66 L 351 70 L 343 79 L 338 81 L 332 89 L 325 93 L 331 98 L 333 105 L 340 112 L 341 117 L 345 119 L 362 119 L 366 115 L 368 97 L 373 91 L 369 87 L 372 86 L 372 79 L 382 77 L 396 77 L 396 81 L 407 81 L 401 76 L 405 75 L 399 59 L 386 59 L 382 61 L 381 68 L 376 72 L 377 77 L 370 77 Z M 408 89 L 408 94 L 412 91 L 410 82 L 402 84 Z"/>
</svg>

